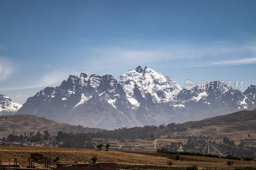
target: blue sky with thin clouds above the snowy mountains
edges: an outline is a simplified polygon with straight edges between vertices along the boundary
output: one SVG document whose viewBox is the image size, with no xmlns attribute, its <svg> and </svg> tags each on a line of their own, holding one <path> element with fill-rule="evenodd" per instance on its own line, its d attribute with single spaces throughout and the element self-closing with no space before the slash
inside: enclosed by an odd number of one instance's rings
<svg viewBox="0 0 256 170">
<path fill-rule="evenodd" d="M 256 84 L 256 1 L 0 1 L 0 93 L 23 104 L 81 72 L 138 65 Z"/>
</svg>

